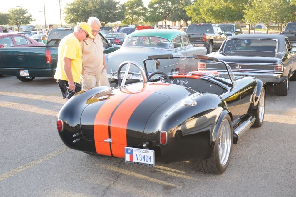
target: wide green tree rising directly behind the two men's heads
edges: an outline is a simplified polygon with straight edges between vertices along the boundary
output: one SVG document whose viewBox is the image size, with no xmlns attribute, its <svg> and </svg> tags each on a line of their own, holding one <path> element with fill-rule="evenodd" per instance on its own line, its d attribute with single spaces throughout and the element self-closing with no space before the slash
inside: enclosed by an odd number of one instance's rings
<svg viewBox="0 0 296 197">
<path fill-rule="evenodd" d="M 65 8 L 65 21 L 74 24 L 97 17 L 104 27 L 107 23 L 123 20 L 124 10 L 121 8 L 115 0 L 75 0 Z"/>
</svg>

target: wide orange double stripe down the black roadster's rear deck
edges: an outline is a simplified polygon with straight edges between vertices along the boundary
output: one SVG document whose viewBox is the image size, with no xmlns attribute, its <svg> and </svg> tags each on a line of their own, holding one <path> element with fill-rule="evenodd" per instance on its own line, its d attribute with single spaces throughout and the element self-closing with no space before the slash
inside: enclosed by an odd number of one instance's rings
<svg viewBox="0 0 296 197">
<path fill-rule="evenodd" d="M 149 84 L 145 88 L 146 91 L 132 94 L 119 93 L 114 98 L 107 100 L 95 118 L 94 139 L 97 153 L 124 158 L 124 147 L 127 146 L 127 124 L 132 113 L 148 96 L 168 85 L 166 83 L 159 83 L 159 85 Z M 124 100 L 125 98 L 127 99 Z M 116 109 L 116 107 L 118 108 Z M 113 141 L 111 143 L 112 150 L 110 150 L 110 143 L 104 142 L 104 140 L 109 138 L 108 123 L 110 118 L 111 139 Z"/>
</svg>

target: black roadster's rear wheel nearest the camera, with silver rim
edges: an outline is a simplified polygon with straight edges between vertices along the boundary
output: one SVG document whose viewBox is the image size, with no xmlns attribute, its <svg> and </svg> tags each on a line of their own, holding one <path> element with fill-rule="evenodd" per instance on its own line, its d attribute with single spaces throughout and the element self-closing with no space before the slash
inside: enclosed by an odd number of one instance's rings
<svg viewBox="0 0 296 197">
<path fill-rule="evenodd" d="M 230 116 L 227 114 L 219 127 L 210 158 L 197 160 L 198 170 L 204 173 L 222 174 L 229 165 L 232 142 L 232 123 Z"/>
</svg>

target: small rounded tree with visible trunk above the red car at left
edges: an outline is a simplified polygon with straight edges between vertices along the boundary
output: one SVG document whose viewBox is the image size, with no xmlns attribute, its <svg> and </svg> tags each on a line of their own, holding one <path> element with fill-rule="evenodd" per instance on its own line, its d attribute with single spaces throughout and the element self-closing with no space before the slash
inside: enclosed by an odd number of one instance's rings
<svg viewBox="0 0 296 197">
<path fill-rule="evenodd" d="M 34 19 L 32 15 L 28 13 L 27 9 L 24 8 L 12 8 L 8 10 L 9 14 L 9 25 L 16 25 L 17 31 L 20 31 L 21 25 L 27 25 Z"/>
</svg>

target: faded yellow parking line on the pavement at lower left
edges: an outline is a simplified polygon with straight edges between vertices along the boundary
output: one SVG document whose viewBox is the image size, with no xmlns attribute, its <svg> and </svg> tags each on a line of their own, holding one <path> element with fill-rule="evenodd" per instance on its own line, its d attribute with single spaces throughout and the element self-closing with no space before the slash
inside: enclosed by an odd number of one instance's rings
<svg viewBox="0 0 296 197">
<path fill-rule="evenodd" d="M 62 148 L 62 149 L 57 150 L 57 151 L 55 151 L 55 152 L 53 152 L 53 153 L 47 154 L 47 155 L 45 155 L 45 156 L 42 157 L 42 158 L 39 158 L 39 159 L 37 159 L 37 160 L 35 160 L 35 161 L 32 161 L 32 162 L 30 162 L 30 163 L 28 163 L 28 164 L 25 164 L 25 165 L 23 165 L 23 166 L 20 166 L 20 167 L 18 167 L 18 168 L 15 168 L 15 169 L 13 169 L 13 170 L 11 170 L 11 171 L 9 171 L 9 172 L 6 172 L 6 173 L 4 173 L 4 174 L 1 174 L 1 175 L 0 175 L 0 181 L 3 181 L 3 180 L 5 180 L 5 179 L 7 179 L 7 178 L 9 178 L 9 177 L 11 177 L 11 176 L 14 176 L 14 175 L 16 175 L 16 174 L 18 174 L 18 173 L 24 171 L 24 170 L 27 170 L 27 169 L 29 169 L 29 168 L 31 168 L 31 167 L 33 167 L 33 166 L 35 166 L 35 165 L 37 165 L 37 164 L 43 162 L 43 161 L 46 161 L 46 160 L 48 160 L 48 159 L 50 159 L 50 158 L 53 158 L 54 156 L 57 156 L 57 155 L 59 155 L 59 154 L 65 152 L 65 151 L 67 151 L 67 150 L 69 150 L 68 147 Z"/>
</svg>

